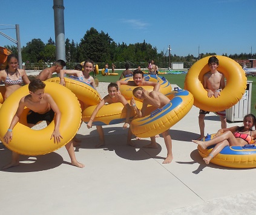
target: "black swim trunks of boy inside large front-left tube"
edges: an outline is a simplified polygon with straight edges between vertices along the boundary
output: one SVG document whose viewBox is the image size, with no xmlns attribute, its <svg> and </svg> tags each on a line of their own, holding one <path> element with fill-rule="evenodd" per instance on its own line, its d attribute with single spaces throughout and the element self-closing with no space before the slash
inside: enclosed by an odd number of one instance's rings
<svg viewBox="0 0 256 215">
<path fill-rule="evenodd" d="M 48 121 L 50 123 L 51 121 L 53 121 L 54 114 L 55 113 L 52 109 L 50 109 L 50 111 L 46 112 L 45 114 L 38 114 L 30 110 L 27 115 L 27 123 L 36 124 L 39 121 Z"/>
</svg>

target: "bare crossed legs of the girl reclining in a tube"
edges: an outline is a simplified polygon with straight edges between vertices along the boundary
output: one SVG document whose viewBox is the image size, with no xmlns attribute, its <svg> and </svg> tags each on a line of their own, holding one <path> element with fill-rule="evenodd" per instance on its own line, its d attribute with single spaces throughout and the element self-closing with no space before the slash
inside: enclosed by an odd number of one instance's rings
<svg viewBox="0 0 256 215">
<path fill-rule="evenodd" d="M 216 144 L 214 146 L 214 148 L 212 149 L 211 154 L 209 154 L 206 158 L 203 158 L 205 163 L 209 164 L 211 159 L 214 156 L 216 156 L 218 153 L 220 153 L 220 151 L 225 146 L 230 146 L 230 143 L 233 143 L 232 145 L 234 145 L 234 143 L 236 143 L 237 140 L 236 140 L 235 136 L 233 135 L 233 133 L 228 130 L 227 132 L 222 133 L 222 135 L 216 136 L 212 140 L 209 140 L 209 141 L 192 140 L 192 142 L 199 144 L 199 146 L 202 147 L 202 149 L 206 149 L 208 146 L 212 146 L 212 145 Z"/>
</svg>

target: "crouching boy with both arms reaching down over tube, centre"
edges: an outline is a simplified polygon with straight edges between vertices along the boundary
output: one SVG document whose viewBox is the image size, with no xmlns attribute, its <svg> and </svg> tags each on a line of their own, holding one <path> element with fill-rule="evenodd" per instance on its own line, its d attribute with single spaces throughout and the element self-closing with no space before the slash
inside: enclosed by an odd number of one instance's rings
<svg viewBox="0 0 256 215">
<path fill-rule="evenodd" d="M 125 100 L 125 97 L 119 93 L 119 89 L 116 83 L 110 83 L 108 85 L 108 95 L 106 95 L 100 103 L 97 105 L 97 107 L 94 109 L 93 114 L 91 115 L 90 121 L 87 124 L 88 129 L 91 128 L 93 124 L 93 120 L 97 115 L 97 112 L 99 112 L 99 109 L 105 104 L 112 104 L 120 102 L 125 106 L 126 108 L 126 119 L 125 124 L 123 124 L 123 129 L 126 129 L 130 120 L 130 113 L 131 113 L 131 106 L 128 103 L 128 101 Z M 103 133 L 99 133 L 99 135 L 104 135 Z M 104 140 L 103 136 L 100 136 L 100 140 Z M 100 141 L 99 144 L 96 145 L 96 147 L 100 147 L 105 145 L 105 141 Z"/>
</svg>

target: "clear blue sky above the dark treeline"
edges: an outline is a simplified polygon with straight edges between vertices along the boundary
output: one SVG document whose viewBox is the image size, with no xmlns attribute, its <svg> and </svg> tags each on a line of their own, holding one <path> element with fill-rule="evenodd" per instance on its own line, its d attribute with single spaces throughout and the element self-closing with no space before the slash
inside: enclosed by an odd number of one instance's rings
<svg viewBox="0 0 256 215">
<path fill-rule="evenodd" d="M 65 38 L 79 43 L 91 27 L 114 42 L 150 43 L 157 51 L 256 53 L 255 0 L 64 0 Z M 19 24 L 21 46 L 54 36 L 53 0 L 2 0 L 0 24 Z M 0 31 L 16 39 L 10 26 Z M 0 46 L 15 45 L 0 35 Z"/>
</svg>

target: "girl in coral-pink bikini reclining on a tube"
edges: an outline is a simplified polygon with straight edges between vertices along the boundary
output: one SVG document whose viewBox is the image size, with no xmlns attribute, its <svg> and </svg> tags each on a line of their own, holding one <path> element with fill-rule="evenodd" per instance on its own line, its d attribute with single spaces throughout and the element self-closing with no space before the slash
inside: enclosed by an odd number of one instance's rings
<svg viewBox="0 0 256 215">
<path fill-rule="evenodd" d="M 256 130 L 252 130 L 255 124 L 255 116 L 248 114 L 243 118 L 243 126 L 233 126 L 228 129 L 220 129 L 215 138 L 209 141 L 192 140 L 199 144 L 202 149 L 215 145 L 211 153 L 203 158 L 206 164 L 209 164 L 212 158 L 222 151 L 225 146 L 245 146 L 245 144 L 254 144 Z"/>
</svg>

